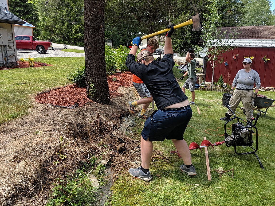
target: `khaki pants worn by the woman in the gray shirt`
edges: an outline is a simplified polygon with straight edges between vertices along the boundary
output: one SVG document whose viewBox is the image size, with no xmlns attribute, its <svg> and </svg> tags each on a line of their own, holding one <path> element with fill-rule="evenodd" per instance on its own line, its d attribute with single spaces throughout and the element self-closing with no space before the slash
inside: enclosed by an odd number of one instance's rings
<svg viewBox="0 0 275 206">
<path fill-rule="evenodd" d="M 232 111 L 235 113 L 236 108 L 240 104 L 243 103 L 246 119 L 251 121 L 251 116 L 253 117 L 253 108 L 254 108 L 254 101 L 251 98 L 253 94 L 253 90 L 251 91 L 244 91 L 244 90 L 234 90 L 233 96 L 230 98 L 229 104 Z M 227 114 L 233 115 L 233 113 L 228 110 Z"/>
</svg>

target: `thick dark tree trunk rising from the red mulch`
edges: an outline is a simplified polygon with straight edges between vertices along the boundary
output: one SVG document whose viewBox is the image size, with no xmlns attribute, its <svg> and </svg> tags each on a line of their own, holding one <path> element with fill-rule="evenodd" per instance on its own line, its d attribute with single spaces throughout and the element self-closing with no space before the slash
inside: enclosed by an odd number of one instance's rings
<svg viewBox="0 0 275 206">
<path fill-rule="evenodd" d="M 84 0 L 86 91 L 92 100 L 110 104 L 106 74 L 104 1 Z"/>
</svg>

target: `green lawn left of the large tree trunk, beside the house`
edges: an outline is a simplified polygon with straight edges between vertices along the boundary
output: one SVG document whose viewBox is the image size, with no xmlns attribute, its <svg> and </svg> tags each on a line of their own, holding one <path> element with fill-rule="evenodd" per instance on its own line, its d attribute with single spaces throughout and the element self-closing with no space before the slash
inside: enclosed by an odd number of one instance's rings
<svg viewBox="0 0 275 206">
<path fill-rule="evenodd" d="M 68 73 L 84 66 L 84 57 L 36 58 L 53 66 L 15 68 L 0 71 L 0 124 L 26 114 L 31 96 L 47 88 L 71 83 Z"/>
</svg>

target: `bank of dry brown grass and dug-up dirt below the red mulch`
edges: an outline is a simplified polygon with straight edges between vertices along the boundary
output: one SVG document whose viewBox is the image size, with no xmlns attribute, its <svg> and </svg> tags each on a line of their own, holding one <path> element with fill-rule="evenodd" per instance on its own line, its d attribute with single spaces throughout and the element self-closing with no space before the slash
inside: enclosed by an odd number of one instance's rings
<svg viewBox="0 0 275 206">
<path fill-rule="evenodd" d="M 127 92 L 127 98 L 134 99 L 131 89 Z M 113 105 L 91 103 L 75 110 L 34 104 L 29 115 L 1 125 L 0 205 L 45 205 L 52 183 L 66 179 L 92 156 L 113 157 L 124 167 L 128 153 L 120 161 L 121 152 L 133 148 L 133 142 L 123 135 L 119 140 L 112 131 L 119 127 L 120 116 L 128 114 L 121 106 L 125 101 L 120 97 Z M 97 120 L 97 112 L 103 117 L 100 132 L 91 118 Z M 59 153 L 66 158 L 60 159 Z"/>
</svg>

